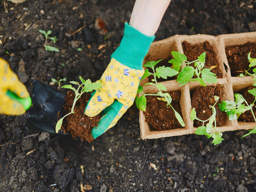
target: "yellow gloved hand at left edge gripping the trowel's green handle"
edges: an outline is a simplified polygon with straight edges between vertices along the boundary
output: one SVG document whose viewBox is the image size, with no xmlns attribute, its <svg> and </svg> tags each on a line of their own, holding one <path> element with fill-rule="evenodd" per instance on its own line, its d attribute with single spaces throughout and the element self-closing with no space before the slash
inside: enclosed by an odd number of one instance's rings
<svg viewBox="0 0 256 192">
<path fill-rule="evenodd" d="M 7 95 L 8 90 L 20 98 L 29 97 L 25 85 L 19 81 L 7 62 L 0 58 L 0 113 L 6 115 L 21 115 L 25 113 L 24 107 Z"/>
</svg>

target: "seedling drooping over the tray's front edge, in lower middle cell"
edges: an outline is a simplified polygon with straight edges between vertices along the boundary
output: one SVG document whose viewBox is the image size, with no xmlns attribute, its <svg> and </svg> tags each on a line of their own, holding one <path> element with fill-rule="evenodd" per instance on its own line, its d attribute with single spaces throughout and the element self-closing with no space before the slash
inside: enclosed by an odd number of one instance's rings
<svg viewBox="0 0 256 192">
<path fill-rule="evenodd" d="M 198 119 L 196 117 L 196 111 L 195 111 L 195 108 L 192 109 L 191 113 L 190 113 L 190 119 L 192 121 L 194 120 L 198 120 L 200 122 L 203 122 L 203 125 L 198 127 L 196 130 L 195 130 L 195 134 L 198 134 L 198 135 L 205 135 L 207 138 L 210 138 L 212 137 L 213 138 L 213 142 L 214 145 L 217 145 L 219 143 L 221 143 L 222 140 L 224 140 L 222 137 L 222 133 L 220 132 L 220 130 L 218 130 L 216 128 L 216 109 L 215 109 L 215 105 L 216 103 L 218 102 L 219 100 L 219 97 L 218 96 L 214 96 L 215 98 L 215 104 L 213 106 L 209 106 L 210 108 L 213 109 L 213 115 L 211 115 L 208 119 L 206 120 L 201 120 L 201 119 Z M 208 122 L 209 121 L 209 122 Z M 206 126 L 204 126 L 204 123 L 205 122 L 208 122 L 206 124 Z M 213 123 L 214 123 L 214 129 L 213 129 Z M 212 131 L 213 130 L 213 131 Z M 216 132 L 216 131 L 219 131 L 219 132 Z M 212 133 L 211 133 L 212 132 Z"/>
</svg>

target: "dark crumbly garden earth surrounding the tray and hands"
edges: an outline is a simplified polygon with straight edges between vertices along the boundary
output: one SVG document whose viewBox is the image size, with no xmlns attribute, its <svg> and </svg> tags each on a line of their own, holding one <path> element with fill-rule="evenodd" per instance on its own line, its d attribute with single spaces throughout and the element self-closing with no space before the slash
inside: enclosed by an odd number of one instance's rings
<svg viewBox="0 0 256 192">
<path fill-rule="evenodd" d="M 134 2 L 2 0 L 0 57 L 30 94 L 33 80 L 78 81 L 81 75 L 95 81 L 121 41 Z M 255 9 L 252 0 L 172 0 L 155 41 L 175 34 L 252 32 Z M 59 53 L 43 48 L 40 29 L 52 30 Z M 92 143 L 26 130 L 27 120 L 28 114 L 0 116 L 0 191 L 256 190 L 256 136 L 239 139 L 247 131 L 224 132 L 216 146 L 194 134 L 143 141 L 135 105 Z"/>
</svg>

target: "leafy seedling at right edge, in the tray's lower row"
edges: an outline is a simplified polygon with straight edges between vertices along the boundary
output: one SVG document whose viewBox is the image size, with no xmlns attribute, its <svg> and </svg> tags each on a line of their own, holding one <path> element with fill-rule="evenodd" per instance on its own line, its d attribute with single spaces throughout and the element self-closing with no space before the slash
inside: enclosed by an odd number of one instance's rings
<svg viewBox="0 0 256 192">
<path fill-rule="evenodd" d="M 252 113 L 252 116 L 254 118 L 254 121 L 256 122 L 254 112 L 252 111 L 252 107 L 254 106 L 254 103 L 256 101 L 256 90 L 252 89 L 252 90 L 248 90 L 248 92 L 255 97 L 254 102 L 252 102 L 252 104 L 250 104 L 250 105 L 245 100 L 245 98 L 243 98 L 243 96 L 238 93 L 234 94 L 235 101 L 226 100 L 226 101 L 222 101 L 222 103 L 219 103 L 219 109 L 221 111 L 225 111 L 228 114 L 230 121 L 232 121 L 234 119 L 238 119 L 239 115 L 241 115 L 245 111 L 250 110 Z M 247 106 L 245 106 L 242 103 L 245 103 Z M 256 133 L 256 126 L 254 127 L 254 129 L 250 130 L 250 132 L 245 134 L 243 137 L 246 137 L 247 135 L 252 134 L 252 133 Z M 243 137 L 241 137 L 241 138 L 243 138 Z"/>
</svg>

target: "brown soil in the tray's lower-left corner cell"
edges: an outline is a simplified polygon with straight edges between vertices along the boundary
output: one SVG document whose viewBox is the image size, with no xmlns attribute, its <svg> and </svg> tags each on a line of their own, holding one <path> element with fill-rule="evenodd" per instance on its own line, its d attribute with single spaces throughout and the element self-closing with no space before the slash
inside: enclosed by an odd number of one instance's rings
<svg viewBox="0 0 256 192">
<path fill-rule="evenodd" d="M 180 108 L 180 95 L 181 92 L 173 91 L 168 92 L 172 98 L 171 106 L 181 115 Z M 146 96 L 147 108 L 144 112 L 145 122 L 150 125 L 150 130 L 162 131 L 182 128 L 177 118 L 175 117 L 174 110 L 166 106 L 166 102 L 157 99 L 158 96 Z M 182 116 L 182 115 L 181 115 Z"/>
</svg>

